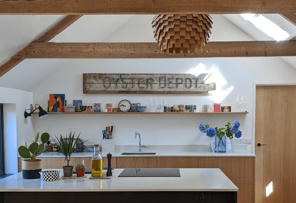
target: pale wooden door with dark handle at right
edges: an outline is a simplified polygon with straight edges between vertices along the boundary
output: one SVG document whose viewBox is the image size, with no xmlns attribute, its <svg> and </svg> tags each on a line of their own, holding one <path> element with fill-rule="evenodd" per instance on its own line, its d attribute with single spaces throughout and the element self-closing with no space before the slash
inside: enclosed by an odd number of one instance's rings
<svg viewBox="0 0 296 203">
<path fill-rule="evenodd" d="M 257 86 L 255 123 L 255 203 L 296 203 L 296 86 Z"/>
</svg>

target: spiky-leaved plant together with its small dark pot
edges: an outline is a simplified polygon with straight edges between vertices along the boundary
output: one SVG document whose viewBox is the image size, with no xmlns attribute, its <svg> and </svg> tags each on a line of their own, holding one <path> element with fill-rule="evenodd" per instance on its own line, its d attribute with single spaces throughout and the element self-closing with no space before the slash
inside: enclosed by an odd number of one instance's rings
<svg viewBox="0 0 296 203">
<path fill-rule="evenodd" d="M 67 161 L 67 166 L 63 166 L 63 172 L 65 177 L 70 177 L 73 175 L 74 167 L 69 166 L 69 162 L 71 159 L 71 155 L 74 152 L 79 135 L 77 135 L 77 137 L 75 138 L 75 132 L 70 132 L 69 136 L 67 134 L 66 136 L 60 134 L 60 136 L 55 135 L 55 138 L 53 138 L 53 141 L 58 145 L 60 152 L 65 155 L 65 161 Z"/>
</svg>

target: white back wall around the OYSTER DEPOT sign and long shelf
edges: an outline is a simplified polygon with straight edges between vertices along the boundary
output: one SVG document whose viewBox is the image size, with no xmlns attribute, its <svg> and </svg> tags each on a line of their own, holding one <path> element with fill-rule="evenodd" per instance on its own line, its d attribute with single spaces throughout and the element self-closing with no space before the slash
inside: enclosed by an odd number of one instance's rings
<svg viewBox="0 0 296 203">
<path fill-rule="evenodd" d="M 215 41 L 221 37 L 225 40 L 250 40 L 250 36 L 233 24 L 214 15 L 213 35 Z M 126 24 L 117 32 L 111 34 L 108 39 L 112 41 L 133 41 L 137 38 L 143 41 L 143 33 L 151 33 L 150 27 L 137 27 L 133 35 L 127 33 L 134 25 L 140 25 L 138 21 L 147 22 L 144 19 L 133 18 L 130 24 Z M 225 24 L 226 23 L 226 24 Z M 223 25 L 222 27 L 219 25 Z M 149 30 L 148 30 L 149 29 Z M 133 37 L 137 36 L 137 37 Z M 60 38 L 59 38 L 60 37 Z M 62 34 L 57 37 L 63 41 Z M 151 41 L 151 37 L 147 36 Z M 49 67 L 51 60 L 43 60 L 44 67 Z M 54 60 L 56 62 L 56 60 Z M 254 111 L 254 82 L 264 83 L 296 83 L 296 70 L 279 58 L 207 58 L 207 59 L 72 59 L 59 60 L 58 67 L 54 67 L 55 74 L 47 75 L 38 86 L 32 89 L 34 102 L 41 106 L 47 106 L 48 94 L 65 93 L 66 100 L 71 103 L 75 99 L 83 100 L 84 105 L 94 102 L 112 102 L 114 106 L 122 99 L 131 102 L 141 102 L 146 105 L 150 98 L 165 98 L 168 104 L 196 104 L 200 110 L 202 104 L 212 104 L 214 100 L 200 95 L 145 95 L 145 94 L 83 94 L 82 73 L 186 73 L 197 72 L 212 73 L 209 82 L 217 83 L 218 99 L 222 105 L 231 105 L 232 111 L 242 109 L 236 102 L 237 95 L 247 95 L 248 103 L 244 110 L 246 115 L 50 115 L 44 119 L 32 117 L 34 130 L 48 131 L 51 135 L 67 133 L 69 131 L 81 132 L 84 139 L 90 138 L 88 143 L 99 143 L 102 138 L 101 131 L 105 126 L 113 125 L 113 137 L 116 145 L 138 144 L 134 138 L 135 131 L 142 135 L 143 144 L 158 145 L 187 145 L 209 144 L 212 140 L 198 130 L 200 122 L 209 123 L 211 126 L 223 127 L 226 122 L 241 121 L 242 138 L 252 138 L 253 135 L 253 111 Z M 29 62 L 28 62 L 29 63 Z M 34 64 L 31 63 L 31 68 Z M 35 67 L 37 68 L 37 67 Z M 231 90 L 231 87 L 233 88 Z M 230 88 L 227 95 L 226 92 Z M 217 102 L 217 101 L 215 101 Z M 251 147 L 249 147 L 251 150 Z"/>
</svg>

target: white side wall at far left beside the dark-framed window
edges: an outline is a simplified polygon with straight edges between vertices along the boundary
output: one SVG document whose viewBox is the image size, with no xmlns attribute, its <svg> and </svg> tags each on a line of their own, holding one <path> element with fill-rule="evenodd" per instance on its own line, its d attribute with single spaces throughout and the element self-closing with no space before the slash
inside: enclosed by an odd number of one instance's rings
<svg viewBox="0 0 296 203">
<path fill-rule="evenodd" d="M 30 108 L 30 103 L 33 103 L 33 94 L 0 87 L 0 95 L 0 103 L 4 104 L 5 173 L 16 173 L 17 147 L 34 136 L 31 119 L 24 118 L 24 110 Z"/>
</svg>

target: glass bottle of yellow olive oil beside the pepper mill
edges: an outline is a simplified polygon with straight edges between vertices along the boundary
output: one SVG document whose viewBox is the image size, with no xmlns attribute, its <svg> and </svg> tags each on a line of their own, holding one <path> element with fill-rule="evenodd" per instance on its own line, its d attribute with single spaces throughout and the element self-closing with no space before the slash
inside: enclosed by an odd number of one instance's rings
<svg viewBox="0 0 296 203">
<path fill-rule="evenodd" d="M 91 159 L 91 176 L 102 177 L 103 176 L 103 160 L 99 153 L 100 145 L 94 145 L 94 155 Z"/>
</svg>

